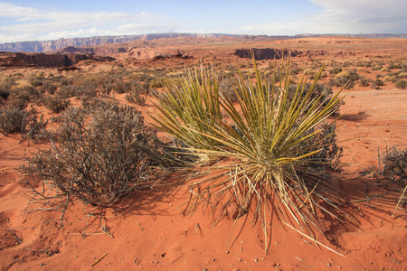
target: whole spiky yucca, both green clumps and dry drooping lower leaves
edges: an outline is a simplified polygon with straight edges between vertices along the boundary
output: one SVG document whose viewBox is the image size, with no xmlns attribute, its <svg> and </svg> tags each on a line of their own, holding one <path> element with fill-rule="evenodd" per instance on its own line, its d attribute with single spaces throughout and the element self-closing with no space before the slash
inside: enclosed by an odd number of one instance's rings
<svg viewBox="0 0 407 271">
<path fill-rule="evenodd" d="M 286 222 L 295 220 L 311 235 L 310 225 L 321 229 L 318 211 L 335 216 L 320 204 L 336 208 L 337 199 L 325 180 L 324 167 L 312 166 L 316 164 L 312 157 L 334 135 L 323 134 L 322 126 L 343 97 L 340 91 L 327 100 L 322 100 L 325 93 L 311 95 L 323 68 L 307 93 L 304 75 L 292 94 L 289 62 L 274 70 L 281 78 L 279 85 L 275 77 L 260 74 L 253 63 L 254 84 L 245 81 L 241 72 L 237 75 L 237 103 L 222 97 L 216 77 L 210 80 L 204 71 L 202 83 L 196 75 L 186 77 L 182 88 L 172 88 L 159 99 L 161 114 L 155 117 L 159 128 L 185 141 L 198 156 L 223 158 L 216 165 L 201 165 L 201 173 L 209 175 L 190 184 L 185 211 L 194 211 L 202 203 L 213 208 L 221 203 L 221 210 L 226 210 L 234 201 L 240 207 L 238 216 L 253 210 L 266 233 L 270 204 L 277 198 Z"/>
</svg>

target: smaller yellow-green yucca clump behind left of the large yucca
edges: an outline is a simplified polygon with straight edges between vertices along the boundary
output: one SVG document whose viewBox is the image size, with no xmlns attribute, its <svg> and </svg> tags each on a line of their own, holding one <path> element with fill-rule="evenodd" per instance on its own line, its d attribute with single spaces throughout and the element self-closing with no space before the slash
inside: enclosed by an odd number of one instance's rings
<svg viewBox="0 0 407 271">
<path fill-rule="evenodd" d="M 170 135 L 196 149 L 213 149 L 221 143 L 211 138 L 213 127 L 222 119 L 217 79 L 212 72 L 189 72 L 181 86 L 167 86 L 159 97 L 161 116 L 153 117 Z"/>
</svg>

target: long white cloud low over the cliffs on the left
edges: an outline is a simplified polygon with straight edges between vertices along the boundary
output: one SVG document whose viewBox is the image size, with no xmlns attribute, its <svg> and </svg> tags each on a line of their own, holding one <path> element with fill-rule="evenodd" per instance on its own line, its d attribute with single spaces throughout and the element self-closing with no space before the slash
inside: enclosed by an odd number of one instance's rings
<svg viewBox="0 0 407 271">
<path fill-rule="evenodd" d="M 47 11 L 0 2 L 0 42 L 53 40 L 95 35 L 169 32 L 178 24 L 163 15 L 141 12 L 74 13 Z"/>
</svg>

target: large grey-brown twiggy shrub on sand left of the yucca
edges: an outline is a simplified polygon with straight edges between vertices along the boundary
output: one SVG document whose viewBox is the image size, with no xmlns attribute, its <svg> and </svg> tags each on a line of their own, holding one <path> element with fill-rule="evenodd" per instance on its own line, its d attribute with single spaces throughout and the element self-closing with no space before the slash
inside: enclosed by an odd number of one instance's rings
<svg viewBox="0 0 407 271">
<path fill-rule="evenodd" d="M 90 120 L 89 120 L 90 118 Z M 53 188 L 68 199 L 110 206 L 136 190 L 158 182 L 153 167 L 180 163 L 132 107 L 95 108 L 87 114 L 71 107 L 57 118 L 55 145 L 40 150 L 20 169 L 24 180 L 43 183 L 37 196 L 54 199 Z M 51 201 L 51 200 L 50 200 Z"/>
</svg>

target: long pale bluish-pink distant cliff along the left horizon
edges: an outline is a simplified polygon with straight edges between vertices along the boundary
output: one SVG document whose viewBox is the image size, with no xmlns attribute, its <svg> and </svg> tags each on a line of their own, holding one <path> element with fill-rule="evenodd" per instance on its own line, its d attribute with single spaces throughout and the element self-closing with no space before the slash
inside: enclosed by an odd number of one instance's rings
<svg viewBox="0 0 407 271">
<path fill-rule="evenodd" d="M 122 43 L 131 42 L 136 40 L 151 41 L 156 39 L 168 39 L 178 37 L 193 37 L 193 38 L 217 38 L 225 34 L 211 33 L 211 34 L 195 34 L 195 33 L 152 33 L 144 35 L 131 35 L 131 36 L 106 36 L 106 37 L 90 37 L 90 38 L 71 38 L 59 39 L 56 41 L 45 42 L 8 42 L 0 43 L 0 51 L 30 51 L 30 52 L 45 52 L 45 51 L 58 51 L 68 46 L 94 46 L 105 43 Z"/>
</svg>

